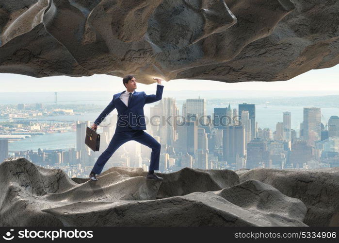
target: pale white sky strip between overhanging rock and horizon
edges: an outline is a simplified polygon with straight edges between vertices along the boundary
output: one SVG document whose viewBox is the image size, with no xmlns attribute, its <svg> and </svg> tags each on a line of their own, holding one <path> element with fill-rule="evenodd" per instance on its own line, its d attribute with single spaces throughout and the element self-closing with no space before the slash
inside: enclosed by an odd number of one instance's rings
<svg viewBox="0 0 339 243">
<path fill-rule="evenodd" d="M 171 80 L 163 82 L 166 90 L 296 90 L 339 92 L 339 65 L 328 69 L 314 69 L 288 81 L 224 83 L 210 80 Z M 138 90 L 154 90 L 155 84 L 139 83 Z M 90 77 L 31 76 L 0 73 L 0 92 L 61 92 L 61 91 L 112 91 L 124 90 L 122 78 L 105 74 Z"/>
</svg>

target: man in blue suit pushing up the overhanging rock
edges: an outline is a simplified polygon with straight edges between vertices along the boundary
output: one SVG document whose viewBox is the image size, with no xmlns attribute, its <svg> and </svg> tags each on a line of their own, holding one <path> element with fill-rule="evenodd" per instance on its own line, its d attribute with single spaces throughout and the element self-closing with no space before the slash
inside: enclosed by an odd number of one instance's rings
<svg viewBox="0 0 339 243">
<path fill-rule="evenodd" d="M 115 133 L 107 149 L 98 157 L 97 162 L 89 175 L 91 180 L 97 181 L 96 174 L 101 173 L 107 160 L 122 144 L 129 140 L 135 140 L 152 149 L 151 162 L 146 178 L 156 180 L 162 179 L 162 177 L 154 174 L 154 171 L 159 170 L 161 145 L 156 139 L 144 131 L 146 130 L 144 105 L 160 101 L 162 97 L 162 80 L 159 78 L 154 78 L 154 80 L 157 80 L 158 82 L 156 94 L 146 95 L 145 92 L 135 91 L 137 84 L 133 75 L 124 77 L 122 81 L 126 90 L 114 94 L 111 103 L 107 105 L 98 116 L 97 120 L 94 121 L 92 129 L 97 130 L 97 126 L 111 111 L 113 111 L 114 108 L 118 111 L 118 121 L 116 123 Z"/>
</svg>

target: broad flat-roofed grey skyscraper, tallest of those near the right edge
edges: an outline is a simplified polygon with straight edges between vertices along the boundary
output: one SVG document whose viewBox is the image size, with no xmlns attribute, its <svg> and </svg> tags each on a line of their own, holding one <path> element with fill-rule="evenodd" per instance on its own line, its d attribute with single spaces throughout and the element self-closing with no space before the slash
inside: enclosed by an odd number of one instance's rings
<svg viewBox="0 0 339 243">
<path fill-rule="evenodd" d="M 322 113 L 320 108 L 304 107 L 304 140 L 312 147 L 314 147 L 314 141 L 321 139 L 321 118 Z"/>
</svg>

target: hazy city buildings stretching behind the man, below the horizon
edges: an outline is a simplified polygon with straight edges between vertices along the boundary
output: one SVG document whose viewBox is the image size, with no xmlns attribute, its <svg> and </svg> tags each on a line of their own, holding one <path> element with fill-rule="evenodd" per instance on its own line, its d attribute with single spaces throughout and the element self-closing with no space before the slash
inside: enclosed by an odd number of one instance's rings
<svg viewBox="0 0 339 243">
<path fill-rule="evenodd" d="M 280 118 L 274 121 L 276 129 L 265 128 L 256 121 L 256 104 L 240 103 L 231 107 L 213 109 L 216 114 L 206 113 L 206 102 L 204 98 L 186 99 L 179 111 L 176 100 L 171 97 L 164 97 L 158 104 L 149 107 L 152 115 L 156 116 L 181 116 L 191 117 L 196 115 L 197 119 L 186 120 L 185 125 L 177 126 L 148 126 L 150 134 L 161 143 L 161 165 L 163 173 L 177 171 L 183 165 L 200 169 L 231 169 L 242 168 L 252 169 L 257 167 L 287 169 L 287 168 L 320 168 L 337 165 L 339 162 L 339 117 L 333 114 L 325 123 L 321 123 L 322 111 L 318 107 L 304 107 L 303 121 L 300 123 L 300 133 L 291 129 L 291 118 L 293 113 L 284 111 L 280 113 Z M 237 108 L 234 108 L 237 107 Z M 16 109 L 4 107 L 0 110 L 0 115 L 6 119 L 13 118 L 19 112 L 28 111 L 27 116 L 48 116 L 50 112 L 62 112 L 65 114 L 74 113 L 71 109 L 52 108 L 46 110 L 44 105 L 35 104 L 27 107 L 25 104 L 17 104 Z M 209 116 L 214 121 L 217 116 L 236 116 L 242 114 L 242 119 L 232 120 L 225 127 L 220 127 L 217 123 L 205 125 L 200 123 L 200 116 Z M 7 115 L 6 115 L 7 114 Z M 100 151 L 102 152 L 113 136 L 116 113 L 108 116 L 108 121 L 103 123 L 102 131 L 98 131 L 102 136 Z M 217 115 L 217 116 L 216 116 Z M 22 116 L 22 115 L 21 115 Z M 10 119 L 11 120 L 11 119 Z M 195 123 L 195 121 L 199 121 Z M 30 120 L 28 120 L 30 121 Z M 243 121 L 243 122 L 242 122 Z M 44 131 L 54 132 L 66 131 L 63 125 L 52 126 L 52 124 L 40 124 L 31 121 L 8 121 L 17 129 L 8 129 L 7 125 L 0 126 L 0 132 L 5 138 L 0 148 L 2 157 L 8 154 L 8 139 L 16 139 L 16 136 L 26 136 L 29 134 L 38 135 Z M 98 156 L 97 152 L 92 152 L 83 143 L 86 126 L 90 121 L 82 120 L 74 122 L 76 129 L 76 147 L 63 150 L 39 148 L 37 152 L 31 150 L 20 150 L 13 152 L 15 156 L 24 156 L 32 159 L 40 165 L 63 166 L 72 175 L 79 175 L 76 166 L 79 164 L 81 173 L 88 173 L 88 169 Z M 181 123 L 181 122 L 179 122 Z M 166 123 L 167 124 L 167 123 Z M 174 123 L 175 124 L 175 123 Z M 67 125 L 68 127 L 70 124 Z M 7 128 L 6 128 L 7 127 Z M 328 129 L 327 129 L 328 128 Z M 148 130 L 147 129 L 147 130 Z M 253 131 L 254 129 L 254 131 Z M 20 132 L 21 131 L 21 132 Z M 74 130 L 73 130 L 74 131 Z M 251 133 L 254 133 L 251 135 Z M 7 135 L 6 135 L 7 134 Z M 44 134 L 44 133 L 42 133 Z M 331 136 L 329 136 L 331 135 Z M 31 136 L 31 135 L 30 135 Z M 127 147 L 126 147 L 127 146 Z M 117 150 L 108 166 L 142 167 L 148 170 L 149 148 L 145 146 L 129 143 Z M 100 153 L 99 151 L 99 153 Z M 87 156 L 88 155 L 88 156 Z"/>
</svg>

